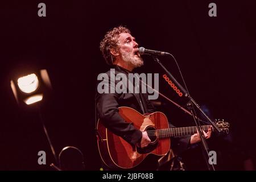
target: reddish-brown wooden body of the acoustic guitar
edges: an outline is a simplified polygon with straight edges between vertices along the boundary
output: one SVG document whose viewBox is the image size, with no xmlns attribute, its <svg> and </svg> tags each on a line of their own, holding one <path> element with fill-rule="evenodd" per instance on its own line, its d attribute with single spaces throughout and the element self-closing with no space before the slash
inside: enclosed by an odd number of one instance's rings
<svg viewBox="0 0 256 182">
<path fill-rule="evenodd" d="M 101 159 L 108 167 L 130 169 L 142 163 L 149 154 L 157 156 L 167 154 L 171 146 L 170 138 L 158 139 L 158 137 L 150 135 L 155 130 L 168 129 L 166 115 L 161 112 L 142 115 L 130 107 L 119 107 L 119 114 L 126 122 L 133 123 L 137 129 L 146 130 L 151 143 L 145 149 L 131 146 L 124 139 L 106 129 L 99 120 L 97 130 L 101 139 L 98 140 L 98 150 Z"/>
</svg>

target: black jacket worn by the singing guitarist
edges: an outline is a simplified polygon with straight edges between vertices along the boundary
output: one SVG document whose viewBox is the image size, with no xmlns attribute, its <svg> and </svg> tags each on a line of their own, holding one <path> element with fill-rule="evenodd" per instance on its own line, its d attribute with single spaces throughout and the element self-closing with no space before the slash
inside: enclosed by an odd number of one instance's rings
<svg viewBox="0 0 256 182">
<path fill-rule="evenodd" d="M 121 67 L 114 67 L 115 75 L 124 73 L 128 75 L 130 72 Z M 110 78 L 110 71 L 106 72 Z M 115 81 L 115 85 L 119 81 Z M 98 81 L 97 87 L 102 81 Z M 109 88 L 113 85 L 108 81 Z M 140 113 L 152 113 L 155 111 L 154 106 L 148 100 L 147 94 L 142 93 L 98 93 L 96 91 L 96 108 L 98 118 L 101 119 L 103 125 L 112 131 L 114 134 L 122 137 L 130 144 L 136 144 L 142 137 L 142 132 L 136 129 L 131 123 L 127 123 L 118 114 L 118 107 L 127 106 L 131 107 Z M 173 125 L 170 125 L 174 127 Z M 172 143 L 177 146 L 177 152 L 183 151 L 188 147 L 190 136 L 174 138 Z"/>
</svg>

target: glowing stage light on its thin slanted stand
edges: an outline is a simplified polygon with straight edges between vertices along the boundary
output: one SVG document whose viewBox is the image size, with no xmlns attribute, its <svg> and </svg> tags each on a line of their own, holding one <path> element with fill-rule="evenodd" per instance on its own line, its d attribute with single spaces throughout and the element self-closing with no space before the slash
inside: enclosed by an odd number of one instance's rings
<svg viewBox="0 0 256 182">
<path fill-rule="evenodd" d="M 13 90 L 14 97 L 20 107 L 28 109 L 27 105 L 34 105 L 30 108 L 32 111 L 39 115 L 39 119 L 43 125 L 44 133 L 46 134 L 49 146 L 51 147 L 52 155 L 58 165 L 55 149 L 52 145 L 51 139 L 48 135 L 46 126 L 44 125 L 43 112 L 41 111 L 42 105 L 39 102 L 48 100 L 51 95 L 52 86 L 46 69 L 32 70 L 31 68 L 24 70 L 23 73 L 12 74 L 11 89 Z M 54 166 L 54 164 L 52 164 Z"/>
</svg>

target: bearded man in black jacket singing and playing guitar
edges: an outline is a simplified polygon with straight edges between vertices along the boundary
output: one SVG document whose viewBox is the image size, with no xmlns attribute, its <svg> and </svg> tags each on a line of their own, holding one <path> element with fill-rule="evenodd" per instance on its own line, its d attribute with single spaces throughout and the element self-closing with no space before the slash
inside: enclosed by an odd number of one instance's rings
<svg viewBox="0 0 256 182">
<path fill-rule="evenodd" d="M 141 67 L 143 60 L 138 52 L 138 43 L 135 38 L 131 36 L 130 30 L 126 27 L 115 27 L 106 33 L 105 38 L 100 43 L 100 49 L 104 56 L 106 63 L 111 65 L 115 70 L 115 75 L 118 73 L 124 73 L 128 76 L 129 73 L 133 73 L 133 69 Z M 110 77 L 110 71 L 106 72 Z M 118 81 L 115 81 L 117 84 Z M 109 84 L 111 87 L 111 84 Z M 110 88 L 111 89 L 111 88 Z M 114 88 L 113 88 L 114 89 Z M 138 147 L 146 147 L 151 142 L 148 138 L 146 131 L 140 131 L 136 129 L 131 123 L 127 123 L 118 114 L 118 107 L 128 106 L 139 111 L 140 113 L 152 113 L 154 112 L 154 106 L 148 100 L 146 93 L 96 93 L 96 107 L 98 117 L 103 122 L 103 125 L 112 131 L 115 135 L 118 135 L 126 140 L 131 145 Z M 172 126 L 173 127 L 173 126 Z M 211 129 L 208 133 L 204 133 L 205 138 L 209 138 L 211 135 Z M 177 138 L 177 151 L 186 150 L 189 144 L 199 142 L 199 134 L 189 135 L 185 137 Z M 151 162 L 152 164 L 152 162 Z M 156 163 L 154 163 L 156 164 Z M 139 169 L 156 169 L 158 165 L 144 164 Z M 147 167 L 147 168 L 146 168 Z"/>
</svg>

